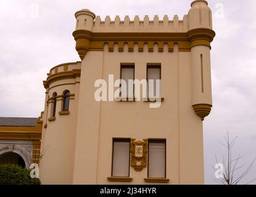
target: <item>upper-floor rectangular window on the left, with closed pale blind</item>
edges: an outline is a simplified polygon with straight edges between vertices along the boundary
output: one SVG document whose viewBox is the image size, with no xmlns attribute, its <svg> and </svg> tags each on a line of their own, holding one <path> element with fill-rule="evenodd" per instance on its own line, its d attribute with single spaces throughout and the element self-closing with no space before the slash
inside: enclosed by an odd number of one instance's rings
<svg viewBox="0 0 256 197">
<path fill-rule="evenodd" d="M 134 92 L 134 64 L 133 65 L 121 65 L 121 96 L 133 97 Z"/>
</svg>

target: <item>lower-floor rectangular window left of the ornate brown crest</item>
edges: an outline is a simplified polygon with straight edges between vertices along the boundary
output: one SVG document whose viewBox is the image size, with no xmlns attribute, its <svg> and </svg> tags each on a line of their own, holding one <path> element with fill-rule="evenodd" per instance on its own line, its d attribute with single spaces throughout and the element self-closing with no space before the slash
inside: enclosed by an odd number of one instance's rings
<svg viewBox="0 0 256 197">
<path fill-rule="evenodd" d="M 130 139 L 113 139 L 112 177 L 130 176 Z"/>
</svg>

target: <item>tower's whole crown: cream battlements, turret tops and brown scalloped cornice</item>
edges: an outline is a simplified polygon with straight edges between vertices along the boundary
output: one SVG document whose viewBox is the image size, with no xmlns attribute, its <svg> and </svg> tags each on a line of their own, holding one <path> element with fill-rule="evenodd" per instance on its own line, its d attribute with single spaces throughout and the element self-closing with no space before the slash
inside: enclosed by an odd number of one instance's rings
<svg viewBox="0 0 256 197">
<path fill-rule="evenodd" d="M 76 50 L 81 60 L 88 51 L 102 51 L 104 44 L 108 44 L 109 52 L 114 51 L 114 44 L 118 44 L 118 51 L 123 52 L 123 46 L 128 44 L 128 51 L 133 52 L 134 45 L 138 44 L 139 52 L 144 52 L 143 46 L 147 44 L 148 52 L 153 52 L 154 44 L 158 51 L 163 52 L 163 45 L 168 45 L 168 52 L 173 51 L 173 45 L 179 45 L 179 51 L 191 51 L 191 47 L 209 46 L 215 33 L 212 30 L 212 14 L 207 1 L 197 0 L 191 4 L 188 15 L 182 20 L 175 15 L 172 20 L 165 15 L 157 15 L 150 20 L 146 15 L 133 20 L 125 16 L 123 20 L 116 16 L 111 20 L 109 16 L 101 20 L 88 9 L 75 13 L 76 28 L 73 36 L 76 41 Z"/>
</svg>

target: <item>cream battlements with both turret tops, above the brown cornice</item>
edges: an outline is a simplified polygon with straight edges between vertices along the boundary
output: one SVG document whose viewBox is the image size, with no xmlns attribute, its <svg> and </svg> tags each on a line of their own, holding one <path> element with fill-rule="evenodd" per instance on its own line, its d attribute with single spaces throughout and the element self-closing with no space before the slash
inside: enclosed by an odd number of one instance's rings
<svg viewBox="0 0 256 197">
<path fill-rule="evenodd" d="M 123 20 L 117 15 L 111 20 L 107 15 L 104 20 L 88 9 L 81 9 L 75 13 L 76 30 L 89 30 L 92 32 L 186 32 L 193 28 L 212 29 L 212 12 L 207 1 L 196 0 L 191 3 L 191 9 L 184 15 L 182 20 L 178 15 L 174 15 L 172 20 L 168 15 L 159 18 L 155 15 L 150 20 L 148 15 L 139 18 L 136 15 L 133 19 L 126 15 Z"/>
</svg>

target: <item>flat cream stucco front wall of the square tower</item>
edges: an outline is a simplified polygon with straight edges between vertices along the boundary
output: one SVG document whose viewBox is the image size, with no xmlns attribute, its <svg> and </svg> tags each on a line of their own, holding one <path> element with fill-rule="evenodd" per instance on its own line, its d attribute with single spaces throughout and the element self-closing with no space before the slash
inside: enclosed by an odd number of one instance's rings
<svg viewBox="0 0 256 197">
<path fill-rule="evenodd" d="M 178 52 L 178 46 L 174 52 L 157 51 L 128 52 L 125 47 L 124 52 L 118 52 L 114 47 L 114 52 L 108 52 L 105 47 L 104 52 L 86 55 L 81 71 L 73 183 L 116 183 L 107 180 L 113 137 L 167 139 L 169 183 L 204 183 L 202 121 L 191 105 L 191 53 Z M 135 79 L 140 80 L 146 79 L 147 63 L 161 63 L 165 100 L 160 108 L 149 108 L 148 102 L 94 100 L 96 79 L 108 81 L 109 74 L 118 79 L 120 63 L 134 63 Z M 131 167 L 130 177 L 130 183 L 144 184 L 147 169 L 135 172 Z"/>
</svg>

